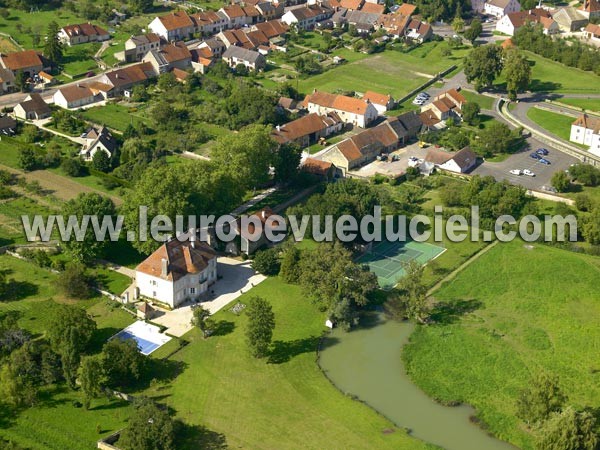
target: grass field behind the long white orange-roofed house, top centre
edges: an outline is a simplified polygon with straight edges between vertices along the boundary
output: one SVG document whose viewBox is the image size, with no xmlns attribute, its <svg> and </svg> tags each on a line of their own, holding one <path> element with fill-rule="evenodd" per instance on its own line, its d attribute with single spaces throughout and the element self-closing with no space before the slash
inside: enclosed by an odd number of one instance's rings
<svg viewBox="0 0 600 450">
<path fill-rule="evenodd" d="M 436 73 L 453 64 L 461 65 L 464 53 L 464 50 L 458 50 L 450 57 L 442 57 L 439 43 L 425 44 L 410 53 L 385 51 L 364 55 L 347 49 L 338 50 L 333 55 L 343 56 L 348 63 L 320 75 L 300 79 L 298 87 L 303 93 L 310 93 L 313 89 L 327 92 L 373 90 L 399 98 Z"/>
</svg>

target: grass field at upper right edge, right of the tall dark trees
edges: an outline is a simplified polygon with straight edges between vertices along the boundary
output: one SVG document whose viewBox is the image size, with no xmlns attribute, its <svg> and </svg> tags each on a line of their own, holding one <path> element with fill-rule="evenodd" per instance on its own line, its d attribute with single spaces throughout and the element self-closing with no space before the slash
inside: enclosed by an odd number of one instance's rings
<svg viewBox="0 0 600 450">
<path fill-rule="evenodd" d="M 600 77 L 598 75 L 565 66 L 531 52 L 525 53 L 532 64 L 530 90 L 575 94 L 600 93 Z M 504 76 L 498 77 L 496 83 L 505 83 Z"/>
</svg>

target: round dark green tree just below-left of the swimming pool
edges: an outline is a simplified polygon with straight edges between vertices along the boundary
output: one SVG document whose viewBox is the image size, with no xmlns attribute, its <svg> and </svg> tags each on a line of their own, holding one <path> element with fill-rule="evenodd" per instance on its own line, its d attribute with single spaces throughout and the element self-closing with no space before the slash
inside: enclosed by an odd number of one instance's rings
<svg viewBox="0 0 600 450">
<path fill-rule="evenodd" d="M 142 377 L 147 360 L 135 341 L 111 339 L 102 347 L 102 361 L 108 385 L 123 387 Z"/>
</svg>

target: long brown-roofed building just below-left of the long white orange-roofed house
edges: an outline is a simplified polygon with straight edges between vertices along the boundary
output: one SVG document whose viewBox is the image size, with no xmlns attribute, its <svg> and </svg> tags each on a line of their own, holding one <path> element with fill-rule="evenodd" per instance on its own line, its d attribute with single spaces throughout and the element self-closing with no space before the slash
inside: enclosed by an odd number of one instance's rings
<svg viewBox="0 0 600 450">
<path fill-rule="evenodd" d="M 311 113 L 277 126 L 271 136 L 280 144 L 294 143 L 304 148 L 321 138 L 339 133 L 343 127 L 344 123 L 335 112 L 322 116 Z"/>
</svg>

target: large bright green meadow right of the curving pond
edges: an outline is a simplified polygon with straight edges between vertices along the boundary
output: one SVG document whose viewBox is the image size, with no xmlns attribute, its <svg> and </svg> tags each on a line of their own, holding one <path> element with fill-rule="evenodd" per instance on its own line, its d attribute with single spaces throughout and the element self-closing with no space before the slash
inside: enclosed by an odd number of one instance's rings
<svg viewBox="0 0 600 450">
<path fill-rule="evenodd" d="M 600 258 L 496 246 L 434 294 L 438 322 L 419 327 L 403 352 L 411 378 L 433 398 L 473 405 L 495 435 L 532 448 L 515 402 L 533 374 L 558 375 L 577 408 L 600 401 L 599 276 Z"/>
</svg>

